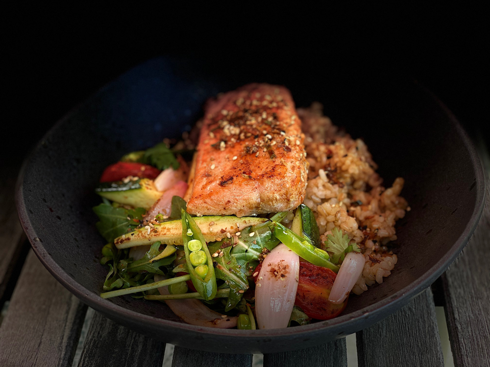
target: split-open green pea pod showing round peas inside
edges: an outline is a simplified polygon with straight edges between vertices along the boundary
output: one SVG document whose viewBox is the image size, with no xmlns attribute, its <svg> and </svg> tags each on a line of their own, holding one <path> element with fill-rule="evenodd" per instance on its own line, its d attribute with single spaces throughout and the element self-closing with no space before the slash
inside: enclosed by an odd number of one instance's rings
<svg viewBox="0 0 490 367">
<path fill-rule="evenodd" d="M 206 240 L 194 219 L 184 209 L 181 210 L 181 214 L 182 239 L 184 242 L 187 268 L 189 270 L 189 275 L 191 276 L 192 284 L 204 300 L 213 299 L 215 298 L 218 288 L 216 285 L 213 258 L 206 246 Z M 191 241 L 195 240 L 201 243 L 201 249 L 193 252 L 189 249 L 188 245 Z M 191 248 L 197 249 L 195 244 L 196 242 L 192 242 Z M 192 259 L 190 257 L 191 253 L 196 254 L 196 256 L 193 255 Z M 196 262 L 196 260 L 199 261 Z"/>
</svg>

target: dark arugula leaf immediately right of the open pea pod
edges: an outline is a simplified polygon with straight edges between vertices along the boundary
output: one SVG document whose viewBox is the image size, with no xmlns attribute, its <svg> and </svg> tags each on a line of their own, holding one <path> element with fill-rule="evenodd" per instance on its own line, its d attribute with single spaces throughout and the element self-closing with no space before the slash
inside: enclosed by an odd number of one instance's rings
<svg viewBox="0 0 490 367">
<path fill-rule="evenodd" d="M 220 255 L 213 257 L 213 265 L 217 279 L 222 279 L 230 287 L 230 295 L 226 302 L 225 311 L 234 308 L 242 299 L 244 292 L 248 289 L 248 280 L 240 270 L 235 257 L 231 256 L 230 251 L 233 246 L 221 248 L 223 242 L 213 242 L 208 245 L 209 253 L 213 254 L 220 250 Z M 242 291 L 242 292 L 240 292 Z"/>
</svg>

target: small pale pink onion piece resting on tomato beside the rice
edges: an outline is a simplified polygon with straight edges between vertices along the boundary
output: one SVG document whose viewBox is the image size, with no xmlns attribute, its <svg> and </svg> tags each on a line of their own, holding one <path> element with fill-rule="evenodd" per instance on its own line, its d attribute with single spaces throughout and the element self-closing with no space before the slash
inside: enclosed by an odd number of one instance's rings
<svg viewBox="0 0 490 367">
<path fill-rule="evenodd" d="M 366 259 L 359 252 L 349 252 L 345 255 L 345 259 L 340 267 L 339 273 L 335 278 L 334 285 L 330 291 L 328 300 L 332 303 L 342 303 L 349 295 L 363 273 L 364 263 Z"/>
</svg>

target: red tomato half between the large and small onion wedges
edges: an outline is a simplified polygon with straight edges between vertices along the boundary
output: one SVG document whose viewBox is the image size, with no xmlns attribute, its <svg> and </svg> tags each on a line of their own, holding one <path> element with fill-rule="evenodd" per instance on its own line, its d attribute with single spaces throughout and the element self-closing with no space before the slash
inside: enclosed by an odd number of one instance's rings
<svg viewBox="0 0 490 367">
<path fill-rule="evenodd" d="M 337 274 L 330 269 L 300 261 L 294 304 L 312 319 L 328 320 L 338 316 L 347 305 L 347 298 L 341 304 L 333 304 L 328 300 L 336 277 Z"/>
</svg>

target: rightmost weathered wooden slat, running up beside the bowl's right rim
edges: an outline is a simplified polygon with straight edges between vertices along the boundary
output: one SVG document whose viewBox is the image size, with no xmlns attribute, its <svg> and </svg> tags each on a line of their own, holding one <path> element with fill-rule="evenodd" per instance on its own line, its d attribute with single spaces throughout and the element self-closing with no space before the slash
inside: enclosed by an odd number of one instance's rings
<svg viewBox="0 0 490 367">
<path fill-rule="evenodd" d="M 485 208 L 470 242 L 442 276 L 446 320 L 455 366 L 490 366 L 490 158 Z"/>
</svg>

